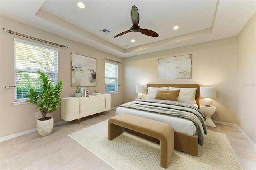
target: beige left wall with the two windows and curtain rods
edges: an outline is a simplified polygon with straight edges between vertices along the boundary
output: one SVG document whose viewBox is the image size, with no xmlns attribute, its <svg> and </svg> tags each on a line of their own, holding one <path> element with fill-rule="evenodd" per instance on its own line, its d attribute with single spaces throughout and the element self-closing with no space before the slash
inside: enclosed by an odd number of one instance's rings
<svg viewBox="0 0 256 170">
<path fill-rule="evenodd" d="M 74 96 L 76 90 L 76 87 L 71 87 L 70 82 L 71 53 L 77 53 L 97 59 L 97 86 L 88 87 L 89 94 L 92 93 L 94 89 L 101 93 L 105 92 L 104 57 L 122 62 L 122 59 L 119 57 L 4 17 L 0 18 L 0 28 L 6 28 L 8 30 L 68 46 L 68 48 L 61 48 L 58 53 L 58 78 L 62 79 L 64 82 L 64 90 L 61 97 Z M 14 34 L 9 35 L 3 30 L 0 30 L 0 137 L 36 128 L 36 120 L 38 119 L 38 117 L 34 117 L 34 113 L 37 112 L 36 105 L 13 105 L 14 88 L 4 88 L 6 85 L 14 85 L 14 37 L 31 41 L 30 39 L 22 38 Z M 122 84 L 122 64 L 119 65 L 119 84 Z M 119 94 L 111 95 L 111 107 L 116 107 L 122 103 L 122 87 L 119 87 L 119 92 Z M 39 116 L 41 117 L 41 114 Z M 60 110 L 50 113 L 48 116 L 54 117 L 54 123 L 63 121 L 60 119 Z"/>
</svg>

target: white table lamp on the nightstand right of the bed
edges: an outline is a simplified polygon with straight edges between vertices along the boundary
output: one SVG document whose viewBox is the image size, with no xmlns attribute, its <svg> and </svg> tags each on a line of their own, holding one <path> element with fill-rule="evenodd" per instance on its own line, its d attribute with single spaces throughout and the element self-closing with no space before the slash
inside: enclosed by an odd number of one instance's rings
<svg viewBox="0 0 256 170">
<path fill-rule="evenodd" d="M 206 106 L 212 105 L 212 99 L 210 97 L 216 97 L 215 87 L 200 87 L 200 96 L 204 98 L 204 104 Z"/>
</svg>

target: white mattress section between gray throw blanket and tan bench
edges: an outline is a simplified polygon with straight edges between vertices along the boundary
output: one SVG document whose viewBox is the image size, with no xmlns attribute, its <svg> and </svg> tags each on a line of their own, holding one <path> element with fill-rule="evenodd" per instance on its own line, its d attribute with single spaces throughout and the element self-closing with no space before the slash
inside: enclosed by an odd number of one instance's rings
<svg viewBox="0 0 256 170">
<path fill-rule="evenodd" d="M 135 115 L 135 116 L 144 117 L 147 119 L 153 119 L 156 121 L 168 123 L 176 132 L 181 132 L 188 135 L 196 134 L 196 126 L 194 125 L 194 123 L 192 121 L 189 121 L 187 119 L 183 119 L 180 117 L 173 117 L 170 115 L 162 115 L 158 113 L 150 113 L 150 112 L 140 111 L 136 109 L 129 109 L 126 107 L 116 108 L 116 113 L 118 115 L 122 113 L 126 113 L 129 115 Z"/>
</svg>

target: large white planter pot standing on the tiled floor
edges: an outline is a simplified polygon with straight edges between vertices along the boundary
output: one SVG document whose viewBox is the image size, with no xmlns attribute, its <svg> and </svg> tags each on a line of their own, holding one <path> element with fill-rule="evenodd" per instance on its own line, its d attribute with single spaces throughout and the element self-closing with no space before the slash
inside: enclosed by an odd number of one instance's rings
<svg viewBox="0 0 256 170">
<path fill-rule="evenodd" d="M 39 119 L 37 119 L 36 128 L 38 134 L 40 134 L 41 136 L 49 135 L 53 129 L 53 118 L 46 121 L 40 121 Z"/>
</svg>

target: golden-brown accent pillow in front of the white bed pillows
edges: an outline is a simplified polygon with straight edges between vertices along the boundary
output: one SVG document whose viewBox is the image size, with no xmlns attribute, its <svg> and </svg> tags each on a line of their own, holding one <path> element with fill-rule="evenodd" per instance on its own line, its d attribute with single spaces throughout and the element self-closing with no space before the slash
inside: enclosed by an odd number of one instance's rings
<svg viewBox="0 0 256 170">
<path fill-rule="evenodd" d="M 158 90 L 155 99 L 178 101 L 180 90 Z"/>
</svg>

